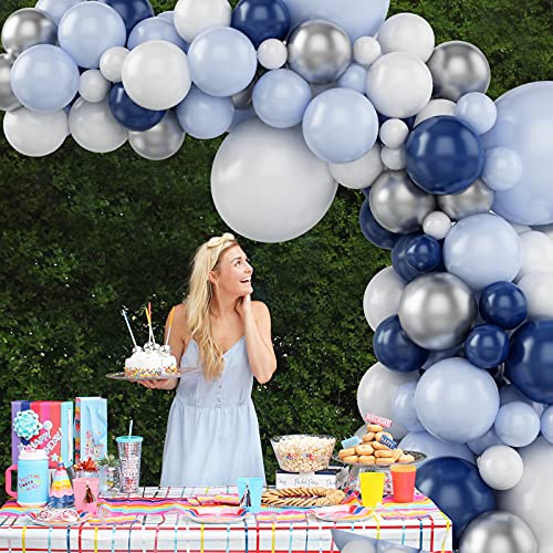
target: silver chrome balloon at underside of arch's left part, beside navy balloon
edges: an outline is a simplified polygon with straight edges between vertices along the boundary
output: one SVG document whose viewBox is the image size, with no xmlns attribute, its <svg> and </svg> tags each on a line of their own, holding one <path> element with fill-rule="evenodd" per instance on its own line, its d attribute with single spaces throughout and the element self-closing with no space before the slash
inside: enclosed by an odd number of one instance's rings
<svg viewBox="0 0 553 553">
<path fill-rule="evenodd" d="M 173 111 L 148 131 L 129 131 L 128 142 L 142 157 L 155 161 L 174 156 L 185 142 L 185 132 Z"/>
</svg>

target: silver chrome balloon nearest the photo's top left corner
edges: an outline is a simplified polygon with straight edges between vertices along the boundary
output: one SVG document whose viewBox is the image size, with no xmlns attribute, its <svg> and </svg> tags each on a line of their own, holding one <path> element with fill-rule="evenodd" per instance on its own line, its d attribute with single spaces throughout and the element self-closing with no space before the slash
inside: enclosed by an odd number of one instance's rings
<svg viewBox="0 0 553 553">
<path fill-rule="evenodd" d="M 23 8 L 14 11 L 2 27 L 2 46 L 12 55 L 35 44 L 56 44 L 58 25 L 42 10 Z"/>
</svg>

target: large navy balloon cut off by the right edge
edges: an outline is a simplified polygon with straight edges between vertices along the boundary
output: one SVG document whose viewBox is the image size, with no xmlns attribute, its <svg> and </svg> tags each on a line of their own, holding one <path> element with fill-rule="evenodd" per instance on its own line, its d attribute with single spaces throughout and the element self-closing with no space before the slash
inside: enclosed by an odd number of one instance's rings
<svg viewBox="0 0 553 553">
<path fill-rule="evenodd" d="M 553 320 L 528 322 L 514 332 L 505 376 L 530 399 L 553 405 Z"/>
</svg>

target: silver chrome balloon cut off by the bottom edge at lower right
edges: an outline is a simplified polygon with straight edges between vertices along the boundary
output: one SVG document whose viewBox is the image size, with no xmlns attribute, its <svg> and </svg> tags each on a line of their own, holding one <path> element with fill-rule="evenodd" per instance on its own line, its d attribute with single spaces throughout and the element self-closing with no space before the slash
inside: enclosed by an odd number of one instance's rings
<svg viewBox="0 0 553 553">
<path fill-rule="evenodd" d="M 488 512 L 467 526 L 459 553 L 538 553 L 538 541 L 520 517 Z"/>
</svg>

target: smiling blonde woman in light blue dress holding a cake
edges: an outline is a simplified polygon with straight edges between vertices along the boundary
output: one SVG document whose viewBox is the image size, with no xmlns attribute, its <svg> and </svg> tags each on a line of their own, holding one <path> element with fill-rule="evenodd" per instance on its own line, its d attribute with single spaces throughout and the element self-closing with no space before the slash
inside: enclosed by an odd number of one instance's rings
<svg viewBox="0 0 553 553">
<path fill-rule="evenodd" d="M 188 298 L 176 307 L 169 344 L 181 367 L 201 372 L 145 383 L 177 388 L 161 486 L 234 486 L 241 477 L 264 478 L 251 390 L 253 377 L 261 384 L 271 379 L 276 358 L 269 310 L 251 301 L 252 274 L 230 233 L 196 251 Z"/>
</svg>

